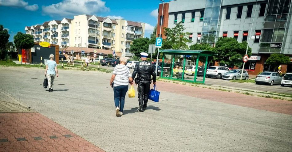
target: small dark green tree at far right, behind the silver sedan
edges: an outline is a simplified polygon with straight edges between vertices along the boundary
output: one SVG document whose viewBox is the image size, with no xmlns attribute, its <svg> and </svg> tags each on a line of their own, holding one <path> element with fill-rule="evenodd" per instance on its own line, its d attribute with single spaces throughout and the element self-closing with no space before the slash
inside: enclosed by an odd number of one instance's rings
<svg viewBox="0 0 292 152">
<path fill-rule="evenodd" d="M 275 71 L 279 65 L 290 63 L 290 58 L 289 56 L 283 54 L 271 54 L 270 57 L 266 60 L 266 63 L 273 65 Z"/>
</svg>

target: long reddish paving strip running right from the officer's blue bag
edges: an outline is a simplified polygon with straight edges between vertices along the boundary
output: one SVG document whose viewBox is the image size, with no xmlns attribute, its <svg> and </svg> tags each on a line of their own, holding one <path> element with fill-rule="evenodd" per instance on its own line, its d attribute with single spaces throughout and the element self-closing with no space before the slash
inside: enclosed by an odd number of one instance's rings
<svg viewBox="0 0 292 152">
<path fill-rule="evenodd" d="M 292 102 L 272 98 L 255 97 L 240 93 L 231 93 L 189 85 L 181 85 L 159 81 L 159 90 L 178 93 L 190 97 L 197 97 L 211 101 L 224 102 L 232 105 L 255 108 L 271 112 L 292 115 Z M 158 91 L 159 91 L 158 90 Z"/>
</svg>

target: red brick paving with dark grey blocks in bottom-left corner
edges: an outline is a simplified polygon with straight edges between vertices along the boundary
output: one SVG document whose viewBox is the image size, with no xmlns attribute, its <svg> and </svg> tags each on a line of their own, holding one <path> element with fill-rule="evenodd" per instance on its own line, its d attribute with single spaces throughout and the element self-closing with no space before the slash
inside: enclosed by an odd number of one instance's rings
<svg viewBox="0 0 292 152">
<path fill-rule="evenodd" d="M 37 112 L 0 113 L 0 152 L 2 151 L 104 152 Z"/>
</svg>

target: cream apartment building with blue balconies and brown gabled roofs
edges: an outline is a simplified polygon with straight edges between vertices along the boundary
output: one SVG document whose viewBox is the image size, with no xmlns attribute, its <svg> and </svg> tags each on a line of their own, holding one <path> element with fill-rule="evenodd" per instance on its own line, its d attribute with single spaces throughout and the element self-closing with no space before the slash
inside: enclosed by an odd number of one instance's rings
<svg viewBox="0 0 292 152">
<path fill-rule="evenodd" d="M 57 44 L 60 48 L 82 47 L 122 52 L 128 58 L 133 54 L 130 45 L 144 37 L 145 23 L 124 19 L 110 19 L 95 15 L 77 15 L 73 19 L 47 21 L 42 25 L 25 28 L 36 42 Z M 37 31 L 37 33 L 35 33 Z M 39 33 L 39 31 L 41 33 Z"/>
</svg>

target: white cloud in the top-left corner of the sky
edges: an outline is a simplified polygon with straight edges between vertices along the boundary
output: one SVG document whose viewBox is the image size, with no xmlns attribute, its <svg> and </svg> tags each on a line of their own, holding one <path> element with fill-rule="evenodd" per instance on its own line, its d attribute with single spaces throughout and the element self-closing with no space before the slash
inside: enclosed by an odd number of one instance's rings
<svg viewBox="0 0 292 152">
<path fill-rule="evenodd" d="M 28 2 L 23 0 L 0 0 L 0 6 L 8 6 L 8 7 L 20 7 L 30 11 L 36 11 L 38 9 L 38 5 L 28 5 Z"/>
</svg>

